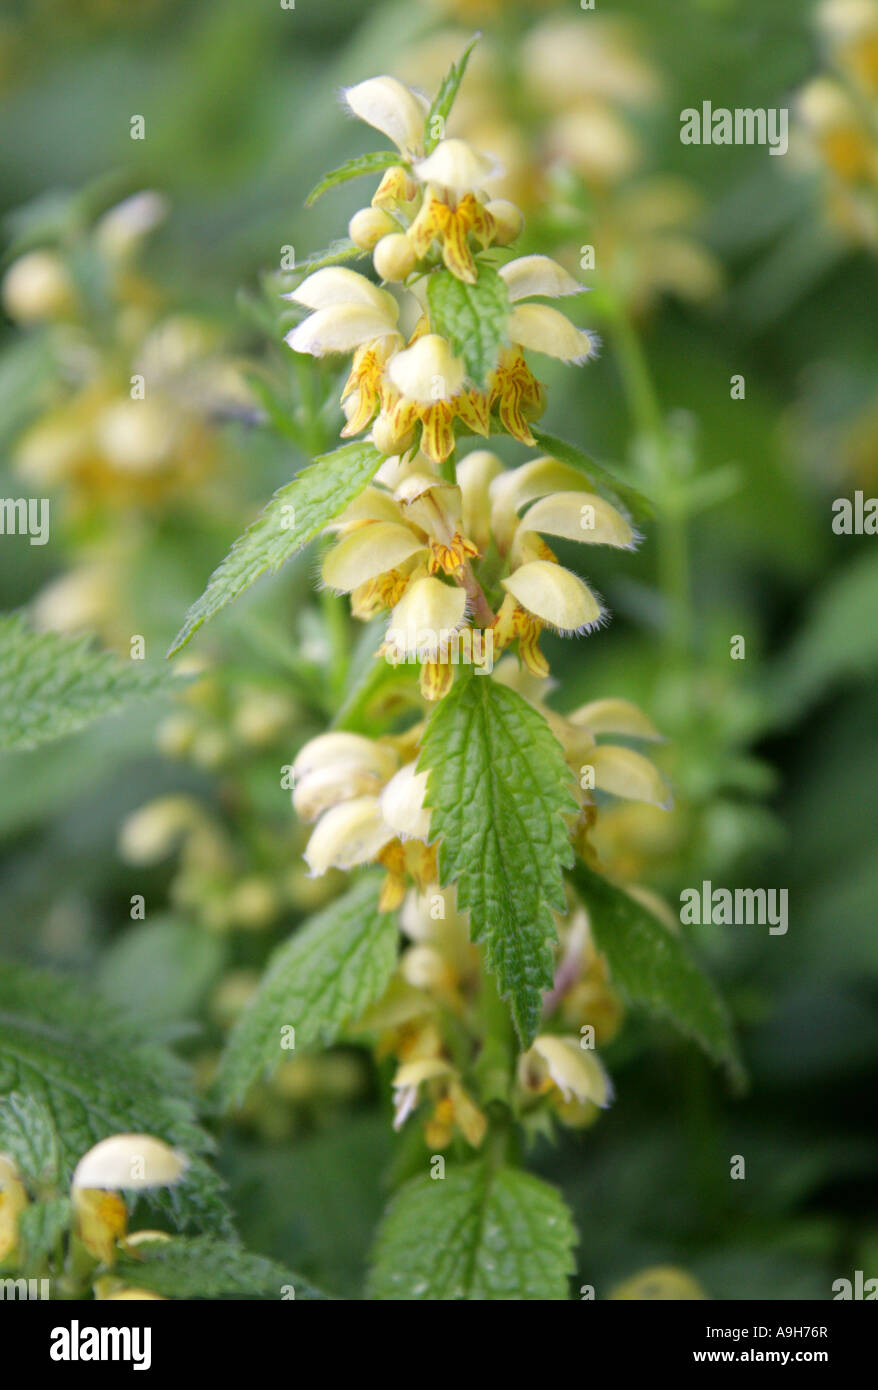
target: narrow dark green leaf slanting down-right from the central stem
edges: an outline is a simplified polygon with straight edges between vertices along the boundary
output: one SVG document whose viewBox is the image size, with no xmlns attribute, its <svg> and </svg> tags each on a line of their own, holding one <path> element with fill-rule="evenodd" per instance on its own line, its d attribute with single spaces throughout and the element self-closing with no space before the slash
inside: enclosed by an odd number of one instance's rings
<svg viewBox="0 0 878 1390">
<path fill-rule="evenodd" d="M 586 865 L 578 863 L 572 877 L 613 983 L 633 1004 L 668 1019 L 693 1038 L 714 1062 L 725 1066 L 736 1087 L 743 1086 L 745 1073 L 725 1005 L 681 938 Z"/>
</svg>

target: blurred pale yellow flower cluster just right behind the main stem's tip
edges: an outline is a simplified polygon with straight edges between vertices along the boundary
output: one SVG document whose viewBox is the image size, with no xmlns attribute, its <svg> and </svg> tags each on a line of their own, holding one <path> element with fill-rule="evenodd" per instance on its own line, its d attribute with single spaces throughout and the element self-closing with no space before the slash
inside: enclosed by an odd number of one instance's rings
<svg viewBox="0 0 878 1390">
<path fill-rule="evenodd" d="M 502 161 L 492 196 L 514 199 L 538 222 L 552 207 L 540 228 L 546 245 L 564 263 L 593 268 L 632 314 L 661 293 L 696 303 L 715 295 L 720 268 L 695 235 L 695 189 L 650 167 L 640 129 L 661 79 L 631 26 L 533 6 L 503 18 L 502 33 L 486 24 L 449 121 L 453 135 Z M 521 31 L 515 43 L 507 25 Z M 432 85 L 463 42 L 458 28 L 431 33 L 403 56 L 400 76 Z"/>
</svg>

